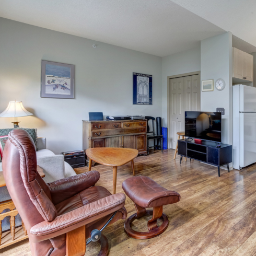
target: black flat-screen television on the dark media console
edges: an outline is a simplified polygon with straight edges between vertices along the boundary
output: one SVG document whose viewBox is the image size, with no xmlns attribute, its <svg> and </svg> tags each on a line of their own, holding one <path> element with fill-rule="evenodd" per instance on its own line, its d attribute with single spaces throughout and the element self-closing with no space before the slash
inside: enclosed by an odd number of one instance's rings
<svg viewBox="0 0 256 256">
<path fill-rule="evenodd" d="M 222 142 L 222 113 L 185 111 L 185 137 Z"/>
</svg>

